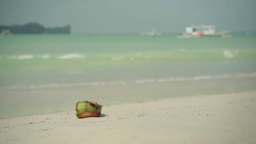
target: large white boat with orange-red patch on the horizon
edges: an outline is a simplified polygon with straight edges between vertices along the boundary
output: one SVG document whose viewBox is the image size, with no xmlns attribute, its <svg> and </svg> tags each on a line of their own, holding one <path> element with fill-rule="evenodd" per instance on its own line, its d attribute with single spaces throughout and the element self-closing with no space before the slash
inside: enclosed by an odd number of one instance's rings
<svg viewBox="0 0 256 144">
<path fill-rule="evenodd" d="M 200 38 L 202 36 L 230 37 L 228 31 L 215 32 L 214 25 L 190 26 L 186 27 L 185 30 L 182 35 L 178 35 L 178 38 Z"/>
</svg>

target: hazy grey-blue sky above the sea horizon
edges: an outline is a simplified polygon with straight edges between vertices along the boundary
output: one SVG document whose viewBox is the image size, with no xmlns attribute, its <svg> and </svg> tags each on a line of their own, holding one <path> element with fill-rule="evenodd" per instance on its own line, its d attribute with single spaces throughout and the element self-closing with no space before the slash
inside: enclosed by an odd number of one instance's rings
<svg viewBox="0 0 256 144">
<path fill-rule="evenodd" d="M 0 0 L 0 25 L 71 25 L 72 33 L 182 33 L 201 22 L 217 31 L 256 31 L 255 0 Z"/>
</svg>

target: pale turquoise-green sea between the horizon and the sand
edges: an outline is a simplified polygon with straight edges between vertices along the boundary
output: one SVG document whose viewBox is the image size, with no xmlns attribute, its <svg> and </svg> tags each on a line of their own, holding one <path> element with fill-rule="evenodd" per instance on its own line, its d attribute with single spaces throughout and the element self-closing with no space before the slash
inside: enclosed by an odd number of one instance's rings
<svg viewBox="0 0 256 144">
<path fill-rule="evenodd" d="M 255 90 L 255 34 L 0 36 L 0 118 Z"/>
</svg>

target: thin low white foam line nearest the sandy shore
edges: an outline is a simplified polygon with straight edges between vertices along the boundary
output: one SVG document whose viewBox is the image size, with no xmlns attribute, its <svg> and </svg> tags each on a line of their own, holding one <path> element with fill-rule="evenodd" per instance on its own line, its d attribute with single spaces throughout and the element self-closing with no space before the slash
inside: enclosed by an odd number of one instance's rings
<svg viewBox="0 0 256 144">
<path fill-rule="evenodd" d="M 238 73 L 238 74 L 224 74 L 224 75 L 200 75 L 193 77 L 166 77 L 158 79 L 139 79 L 133 81 L 95 81 L 95 82 L 79 82 L 79 83 L 51 83 L 46 85 L 30 85 L 30 86 L 9 86 L 4 89 L 43 89 L 43 88 L 65 88 L 65 87 L 85 87 L 85 86 L 125 86 L 125 85 L 141 85 L 143 83 L 158 83 L 158 82 L 178 82 L 178 81 L 201 81 L 211 79 L 235 79 L 242 77 L 256 77 L 256 72 Z"/>
</svg>

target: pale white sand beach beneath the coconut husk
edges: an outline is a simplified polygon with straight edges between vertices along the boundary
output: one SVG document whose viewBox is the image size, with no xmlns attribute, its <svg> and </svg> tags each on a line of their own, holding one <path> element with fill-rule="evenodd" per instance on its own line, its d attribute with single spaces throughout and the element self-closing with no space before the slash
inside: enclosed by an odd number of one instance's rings
<svg viewBox="0 0 256 144">
<path fill-rule="evenodd" d="M 0 143 L 256 143 L 256 91 L 0 119 Z"/>
</svg>

